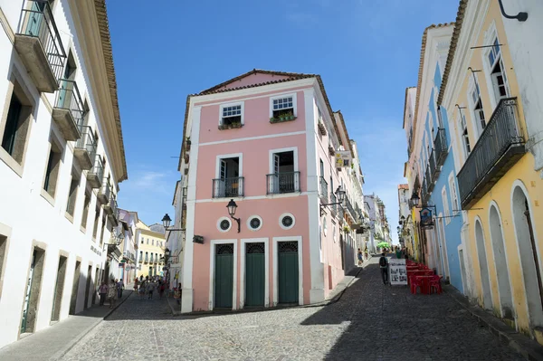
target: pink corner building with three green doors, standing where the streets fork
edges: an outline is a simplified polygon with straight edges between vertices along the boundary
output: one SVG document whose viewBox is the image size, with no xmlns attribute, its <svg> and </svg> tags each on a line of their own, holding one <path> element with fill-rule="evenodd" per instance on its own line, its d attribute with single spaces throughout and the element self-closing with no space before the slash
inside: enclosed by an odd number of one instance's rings
<svg viewBox="0 0 543 361">
<path fill-rule="evenodd" d="M 176 191 L 182 311 L 324 300 L 355 265 L 353 158 L 319 75 L 253 70 L 189 96 Z"/>
</svg>

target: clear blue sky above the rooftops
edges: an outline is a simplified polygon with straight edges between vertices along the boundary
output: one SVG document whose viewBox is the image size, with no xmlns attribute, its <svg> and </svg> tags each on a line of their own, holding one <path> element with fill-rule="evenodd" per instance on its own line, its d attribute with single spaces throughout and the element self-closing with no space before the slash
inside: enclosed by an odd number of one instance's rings
<svg viewBox="0 0 543 361">
<path fill-rule="evenodd" d="M 182 4 L 182 5 L 180 5 Z M 260 68 L 318 73 L 357 141 L 396 239 L 407 157 L 405 88 L 415 86 L 424 28 L 452 22 L 457 0 L 110 1 L 129 167 L 119 206 L 148 224 L 173 214 L 186 95 Z"/>
</svg>

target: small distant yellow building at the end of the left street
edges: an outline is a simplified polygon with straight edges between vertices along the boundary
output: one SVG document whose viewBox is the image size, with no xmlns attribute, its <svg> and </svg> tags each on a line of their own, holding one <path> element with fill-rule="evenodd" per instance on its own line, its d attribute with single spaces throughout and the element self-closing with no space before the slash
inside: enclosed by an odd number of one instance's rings
<svg viewBox="0 0 543 361">
<path fill-rule="evenodd" d="M 137 224 L 138 276 L 162 275 L 166 237 L 164 233 L 154 232 L 147 224 Z"/>
</svg>

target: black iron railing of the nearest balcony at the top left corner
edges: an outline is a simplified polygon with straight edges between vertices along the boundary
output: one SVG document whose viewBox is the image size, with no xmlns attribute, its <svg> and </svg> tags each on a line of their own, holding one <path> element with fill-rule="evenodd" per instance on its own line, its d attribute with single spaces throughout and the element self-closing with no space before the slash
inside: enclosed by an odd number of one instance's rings
<svg viewBox="0 0 543 361">
<path fill-rule="evenodd" d="M 54 79 L 64 70 L 66 52 L 47 0 L 27 0 L 21 12 L 18 34 L 38 38 L 51 67 Z"/>
</svg>

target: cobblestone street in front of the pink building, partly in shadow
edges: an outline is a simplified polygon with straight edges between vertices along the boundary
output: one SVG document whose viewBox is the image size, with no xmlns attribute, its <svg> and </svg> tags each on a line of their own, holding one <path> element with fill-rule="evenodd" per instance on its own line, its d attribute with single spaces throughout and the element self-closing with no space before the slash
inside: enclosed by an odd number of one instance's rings
<svg viewBox="0 0 543 361">
<path fill-rule="evenodd" d="M 376 258 L 328 307 L 172 317 L 132 295 L 62 360 L 521 360 L 451 297 L 384 286 Z"/>
</svg>

